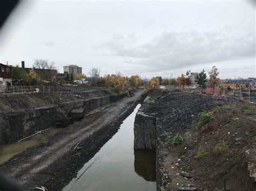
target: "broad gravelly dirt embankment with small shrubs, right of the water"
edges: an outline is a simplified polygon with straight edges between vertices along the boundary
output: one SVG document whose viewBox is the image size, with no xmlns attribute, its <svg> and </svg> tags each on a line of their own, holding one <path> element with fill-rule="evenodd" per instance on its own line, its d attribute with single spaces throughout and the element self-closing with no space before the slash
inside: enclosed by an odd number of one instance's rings
<svg viewBox="0 0 256 191">
<path fill-rule="evenodd" d="M 151 100 L 144 112 L 158 117 L 159 190 L 223 190 L 224 181 L 229 190 L 255 190 L 254 105 L 182 92 L 155 92 Z M 203 111 L 213 119 L 198 128 Z M 175 146 L 178 133 L 184 141 Z"/>
</svg>

